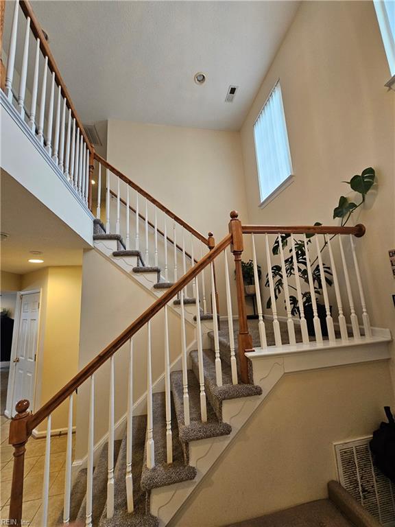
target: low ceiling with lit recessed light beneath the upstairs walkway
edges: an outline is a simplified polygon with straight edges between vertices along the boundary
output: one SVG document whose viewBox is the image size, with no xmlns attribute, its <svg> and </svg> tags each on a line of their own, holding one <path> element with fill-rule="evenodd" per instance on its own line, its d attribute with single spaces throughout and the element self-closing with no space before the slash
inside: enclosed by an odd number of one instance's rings
<svg viewBox="0 0 395 527">
<path fill-rule="evenodd" d="M 4 170 L 0 181 L 1 232 L 10 235 L 1 242 L 1 269 L 25 274 L 47 266 L 81 266 L 88 244 Z M 44 263 L 30 264 L 30 258 Z"/>
</svg>

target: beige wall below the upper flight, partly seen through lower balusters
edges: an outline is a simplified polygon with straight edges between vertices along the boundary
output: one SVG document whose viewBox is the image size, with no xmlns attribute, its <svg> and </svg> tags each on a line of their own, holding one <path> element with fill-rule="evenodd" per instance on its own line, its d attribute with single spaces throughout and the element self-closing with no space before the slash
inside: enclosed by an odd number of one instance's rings
<svg viewBox="0 0 395 527">
<path fill-rule="evenodd" d="M 132 281 L 127 272 L 119 270 L 115 264 L 96 250 L 84 253 L 82 266 L 82 308 L 80 330 L 80 357 L 78 369 L 81 370 L 93 360 L 112 340 L 117 338 L 147 307 L 156 296 L 142 285 Z M 170 362 L 181 353 L 180 318 L 171 309 L 169 317 Z M 163 374 L 164 355 L 164 311 L 152 318 L 152 381 Z M 194 327 L 187 323 L 187 344 L 194 338 Z M 143 327 L 133 340 L 133 401 L 147 389 L 147 326 Z M 115 422 L 127 410 L 129 344 L 125 344 L 115 354 Z M 108 432 L 108 387 L 109 361 L 95 373 L 95 443 Z M 77 438 L 75 458 L 86 454 L 87 417 L 89 412 L 89 382 L 78 389 Z M 162 389 L 163 390 L 163 389 Z"/>
</svg>

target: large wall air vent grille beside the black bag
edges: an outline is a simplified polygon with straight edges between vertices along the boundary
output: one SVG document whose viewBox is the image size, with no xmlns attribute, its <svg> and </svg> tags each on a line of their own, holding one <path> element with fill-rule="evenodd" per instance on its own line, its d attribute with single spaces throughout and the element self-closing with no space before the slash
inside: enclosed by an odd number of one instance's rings
<svg viewBox="0 0 395 527">
<path fill-rule="evenodd" d="M 395 484 L 374 466 L 371 437 L 335 444 L 339 482 L 385 527 L 395 526 Z"/>
</svg>

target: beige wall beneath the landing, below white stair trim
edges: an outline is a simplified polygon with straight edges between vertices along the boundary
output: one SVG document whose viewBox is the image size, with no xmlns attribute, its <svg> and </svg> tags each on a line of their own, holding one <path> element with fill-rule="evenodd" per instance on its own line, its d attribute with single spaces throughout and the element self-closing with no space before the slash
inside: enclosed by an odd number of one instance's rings
<svg viewBox="0 0 395 527">
<path fill-rule="evenodd" d="M 169 526 L 223 526 L 326 497 L 333 443 L 372 434 L 392 401 L 386 362 L 285 375 Z"/>
</svg>

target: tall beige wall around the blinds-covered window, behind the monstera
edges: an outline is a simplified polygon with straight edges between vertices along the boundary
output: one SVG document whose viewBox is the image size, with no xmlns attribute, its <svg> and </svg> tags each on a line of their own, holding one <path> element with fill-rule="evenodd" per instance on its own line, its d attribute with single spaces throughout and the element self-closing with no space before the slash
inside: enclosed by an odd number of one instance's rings
<svg viewBox="0 0 395 527">
<path fill-rule="evenodd" d="M 278 78 L 295 179 L 260 209 L 253 124 Z M 354 218 L 367 228 L 357 249 L 372 324 L 394 331 L 387 251 L 395 246 L 395 98 L 383 86 L 389 78 L 372 2 L 304 2 L 256 95 L 241 142 L 250 223 L 334 224 L 339 196 L 353 198 L 342 180 L 376 169 L 378 185 Z"/>
</svg>

